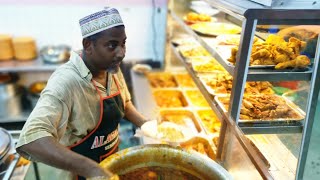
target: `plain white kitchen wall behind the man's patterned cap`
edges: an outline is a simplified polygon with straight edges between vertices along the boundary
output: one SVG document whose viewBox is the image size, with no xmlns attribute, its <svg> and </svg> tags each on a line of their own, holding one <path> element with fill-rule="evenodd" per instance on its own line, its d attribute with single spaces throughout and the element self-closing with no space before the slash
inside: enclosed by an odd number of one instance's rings
<svg viewBox="0 0 320 180">
<path fill-rule="evenodd" d="M 0 34 L 34 37 L 39 50 L 51 44 L 80 49 L 79 19 L 104 6 L 113 6 L 120 11 L 126 26 L 126 61 L 162 60 L 166 3 L 167 0 L 0 0 Z"/>
</svg>

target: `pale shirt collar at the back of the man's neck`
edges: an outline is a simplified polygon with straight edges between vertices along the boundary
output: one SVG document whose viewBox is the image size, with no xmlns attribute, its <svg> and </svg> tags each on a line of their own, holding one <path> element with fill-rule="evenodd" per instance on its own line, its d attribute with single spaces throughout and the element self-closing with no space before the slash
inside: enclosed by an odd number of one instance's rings
<svg viewBox="0 0 320 180">
<path fill-rule="evenodd" d="M 78 52 L 71 51 L 70 61 L 76 66 L 82 78 L 85 78 L 91 81 L 92 74 L 88 69 L 88 67 L 84 64 L 83 59 L 80 57 Z"/>
</svg>

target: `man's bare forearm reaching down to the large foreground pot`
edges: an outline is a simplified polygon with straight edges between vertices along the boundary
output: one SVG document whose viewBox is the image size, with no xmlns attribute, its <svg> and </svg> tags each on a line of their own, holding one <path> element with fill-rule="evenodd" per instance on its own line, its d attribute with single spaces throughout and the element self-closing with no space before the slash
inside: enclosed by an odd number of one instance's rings
<svg viewBox="0 0 320 180">
<path fill-rule="evenodd" d="M 99 165 L 80 154 L 59 144 L 52 137 L 43 137 L 17 149 L 18 152 L 27 153 L 32 158 L 56 168 L 71 171 L 84 177 L 110 176 Z"/>
</svg>

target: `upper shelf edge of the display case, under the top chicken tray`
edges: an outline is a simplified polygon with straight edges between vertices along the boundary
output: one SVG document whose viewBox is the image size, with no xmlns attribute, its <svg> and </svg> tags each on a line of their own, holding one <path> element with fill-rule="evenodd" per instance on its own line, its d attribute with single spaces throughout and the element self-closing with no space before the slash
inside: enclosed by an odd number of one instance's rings
<svg viewBox="0 0 320 180">
<path fill-rule="evenodd" d="M 224 68 L 230 75 L 234 74 L 234 66 L 227 64 L 226 60 L 220 56 L 215 48 L 208 45 L 206 39 L 195 33 L 183 20 L 174 12 L 170 12 L 173 19 L 193 38 L 195 38 Z M 253 69 L 249 68 L 247 80 L 248 81 L 309 81 L 311 79 L 312 69 L 310 67 L 304 70 L 275 70 L 275 69 Z"/>
</svg>

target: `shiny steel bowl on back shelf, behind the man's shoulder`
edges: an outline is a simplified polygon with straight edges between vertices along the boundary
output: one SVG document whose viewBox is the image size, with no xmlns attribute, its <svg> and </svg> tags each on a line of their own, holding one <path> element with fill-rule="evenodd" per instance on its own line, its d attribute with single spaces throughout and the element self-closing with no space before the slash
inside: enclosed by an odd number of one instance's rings
<svg viewBox="0 0 320 180">
<path fill-rule="evenodd" d="M 46 63 L 62 63 L 69 59 L 71 48 L 66 45 L 45 46 L 40 50 L 40 57 Z"/>
</svg>

